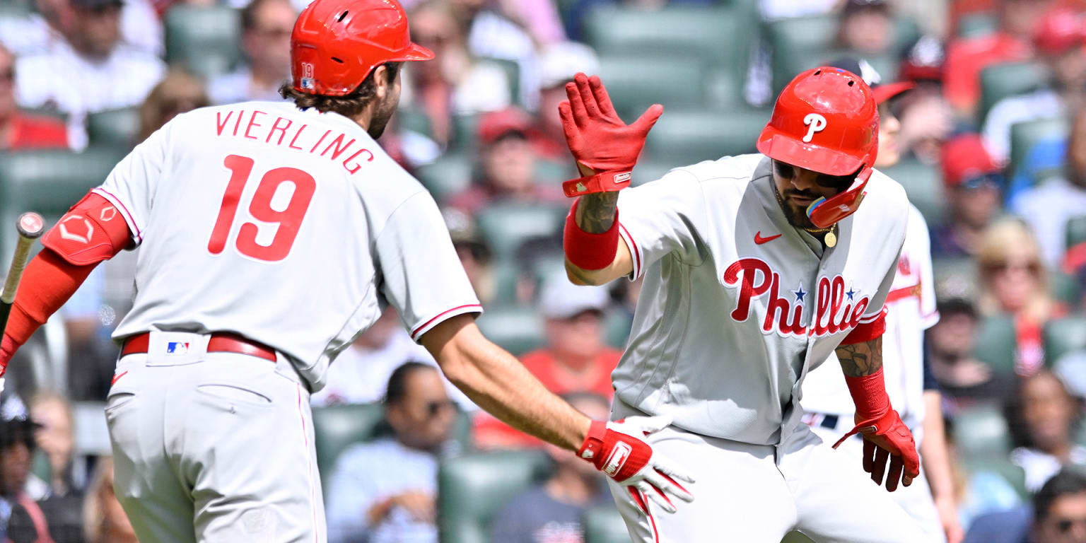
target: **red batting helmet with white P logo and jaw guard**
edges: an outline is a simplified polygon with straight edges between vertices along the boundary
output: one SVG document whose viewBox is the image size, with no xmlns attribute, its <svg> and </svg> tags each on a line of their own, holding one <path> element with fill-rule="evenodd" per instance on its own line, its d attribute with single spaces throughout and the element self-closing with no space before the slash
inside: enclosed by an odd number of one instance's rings
<svg viewBox="0 0 1086 543">
<path fill-rule="evenodd" d="M 822 66 L 796 76 L 776 98 L 773 116 L 758 136 L 770 159 L 821 174 L 859 173 L 851 186 L 807 207 L 819 228 L 856 213 L 879 152 L 879 108 L 858 75 Z"/>
</svg>

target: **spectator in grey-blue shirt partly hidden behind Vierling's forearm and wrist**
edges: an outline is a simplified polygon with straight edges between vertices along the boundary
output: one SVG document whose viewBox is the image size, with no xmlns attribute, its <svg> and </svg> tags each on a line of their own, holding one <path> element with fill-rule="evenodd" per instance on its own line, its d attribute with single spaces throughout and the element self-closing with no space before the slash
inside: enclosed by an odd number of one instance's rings
<svg viewBox="0 0 1086 543">
<path fill-rule="evenodd" d="M 593 420 L 606 419 L 607 399 L 582 392 L 566 394 L 567 402 Z M 522 492 L 494 516 L 491 541 L 502 543 L 584 543 L 581 517 L 585 509 L 614 503 L 599 472 L 554 445 L 545 445 L 554 473 L 542 484 Z"/>
</svg>

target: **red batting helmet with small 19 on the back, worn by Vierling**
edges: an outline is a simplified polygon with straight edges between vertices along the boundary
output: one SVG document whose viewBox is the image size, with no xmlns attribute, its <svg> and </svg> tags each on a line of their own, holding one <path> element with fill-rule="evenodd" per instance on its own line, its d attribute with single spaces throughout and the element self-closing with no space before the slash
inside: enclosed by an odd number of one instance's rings
<svg viewBox="0 0 1086 543">
<path fill-rule="evenodd" d="M 349 94 L 386 62 L 430 59 L 433 52 L 411 42 L 396 0 L 316 0 L 290 36 L 294 90 L 310 94 Z"/>
</svg>

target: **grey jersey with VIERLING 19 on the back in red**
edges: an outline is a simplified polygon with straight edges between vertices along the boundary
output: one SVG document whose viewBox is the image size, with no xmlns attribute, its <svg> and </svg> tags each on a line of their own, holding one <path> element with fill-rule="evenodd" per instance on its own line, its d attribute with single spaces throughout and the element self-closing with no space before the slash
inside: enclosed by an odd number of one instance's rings
<svg viewBox="0 0 1086 543">
<path fill-rule="evenodd" d="M 386 302 L 415 341 L 481 311 L 430 193 L 334 113 L 245 102 L 178 115 L 94 191 L 141 247 L 116 339 L 233 331 L 318 390 Z"/>
</svg>

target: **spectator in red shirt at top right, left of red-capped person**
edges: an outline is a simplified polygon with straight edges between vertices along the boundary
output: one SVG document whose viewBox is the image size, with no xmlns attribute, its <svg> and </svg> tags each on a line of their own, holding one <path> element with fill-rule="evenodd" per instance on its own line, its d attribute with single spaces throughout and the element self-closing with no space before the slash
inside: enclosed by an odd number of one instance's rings
<svg viewBox="0 0 1086 543">
<path fill-rule="evenodd" d="M 999 62 L 1024 61 L 1032 54 L 1030 36 L 1052 0 L 997 0 L 999 29 L 977 38 L 959 38 L 947 47 L 946 96 L 962 116 L 972 116 L 981 97 L 981 71 Z"/>
</svg>

